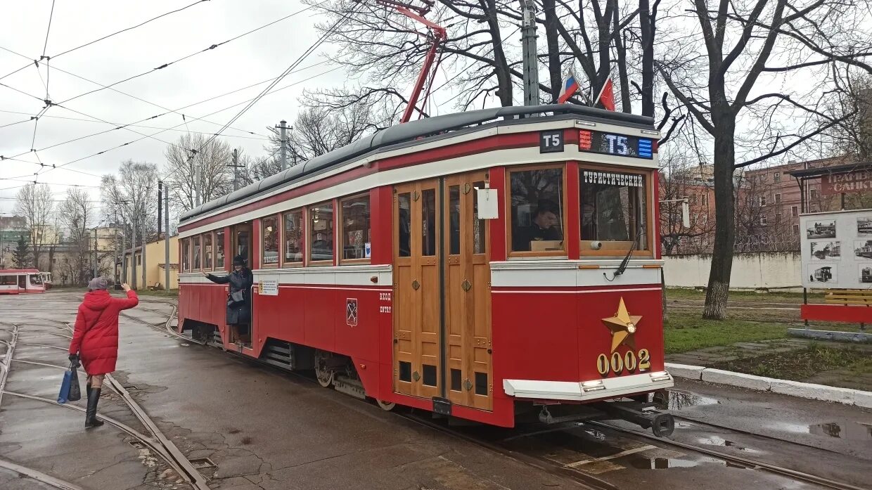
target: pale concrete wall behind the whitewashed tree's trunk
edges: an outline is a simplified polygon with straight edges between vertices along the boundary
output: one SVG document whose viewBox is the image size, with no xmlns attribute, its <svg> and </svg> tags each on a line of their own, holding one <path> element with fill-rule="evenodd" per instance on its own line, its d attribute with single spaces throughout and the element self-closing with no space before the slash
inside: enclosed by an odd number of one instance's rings
<svg viewBox="0 0 872 490">
<path fill-rule="evenodd" d="M 667 287 L 696 288 L 708 285 L 712 255 L 664 255 Z M 730 287 L 734 289 L 801 288 L 799 252 L 754 252 L 732 256 Z"/>
</svg>

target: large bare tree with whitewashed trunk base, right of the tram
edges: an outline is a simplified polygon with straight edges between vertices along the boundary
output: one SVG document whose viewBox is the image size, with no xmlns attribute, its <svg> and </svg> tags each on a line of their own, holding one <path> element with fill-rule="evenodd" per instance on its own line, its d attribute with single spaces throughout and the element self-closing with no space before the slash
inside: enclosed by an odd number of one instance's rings
<svg viewBox="0 0 872 490">
<path fill-rule="evenodd" d="M 830 73 L 847 65 L 872 71 L 863 61 L 872 41 L 862 27 L 869 10 L 853 0 L 712 3 L 692 0 L 688 16 L 678 17 L 695 25 L 664 50 L 657 71 L 712 141 L 717 227 L 703 316 L 722 319 L 736 238 L 734 171 L 839 124 L 819 110 L 832 97 Z M 782 88 L 800 77 L 813 86 Z"/>
</svg>

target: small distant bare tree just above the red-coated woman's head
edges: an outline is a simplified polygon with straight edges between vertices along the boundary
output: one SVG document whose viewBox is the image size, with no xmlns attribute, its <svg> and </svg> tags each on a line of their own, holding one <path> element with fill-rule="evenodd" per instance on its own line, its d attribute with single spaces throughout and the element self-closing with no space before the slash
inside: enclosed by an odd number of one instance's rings
<svg viewBox="0 0 872 490">
<path fill-rule="evenodd" d="M 70 261 L 62 265 L 62 270 L 70 276 L 73 284 L 84 284 L 91 269 L 91 235 L 90 228 L 96 218 L 96 213 L 89 201 L 85 189 L 73 187 L 66 191 L 66 200 L 58 206 L 60 225 L 70 234 Z"/>
</svg>

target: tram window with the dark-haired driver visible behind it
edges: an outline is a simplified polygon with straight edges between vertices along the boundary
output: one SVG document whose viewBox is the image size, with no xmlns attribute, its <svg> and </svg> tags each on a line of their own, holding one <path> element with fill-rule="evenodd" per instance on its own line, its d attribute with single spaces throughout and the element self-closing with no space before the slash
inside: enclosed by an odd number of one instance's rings
<svg viewBox="0 0 872 490">
<path fill-rule="evenodd" d="M 512 251 L 563 250 L 563 169 L 510 174 Z"/>
</svg>

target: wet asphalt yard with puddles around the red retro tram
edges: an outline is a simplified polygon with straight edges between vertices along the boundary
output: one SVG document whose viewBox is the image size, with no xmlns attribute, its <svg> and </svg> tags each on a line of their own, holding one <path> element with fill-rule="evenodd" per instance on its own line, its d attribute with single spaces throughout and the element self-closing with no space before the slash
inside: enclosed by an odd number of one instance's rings
<svg viewBox="0 0 872 490">
<path fill-rule="evenodd" d="M 129 433 L 108 424 L 85 431 L 83 412 L 51 403 L 80 297 L 0 297 L 0 361 L 15 340 L 0 398 L 0 462 L 83 489 L 188 488 Z M 145 297 L 122 317 L 114 377 L 213 489 L 819 488 L 600 425 L 452 427 L 466 438 L 458 439 L 305 376 L 170 336 L 162 330 L 170 302 Z M 676 441 L 872 488 L 872 412 L 691 382 L 664 404 L 678 415 Z M 146 432 L 111 391 L 100 412 Z M 0 488 L 56 487 L 0 467 Z"/>
</svg>

